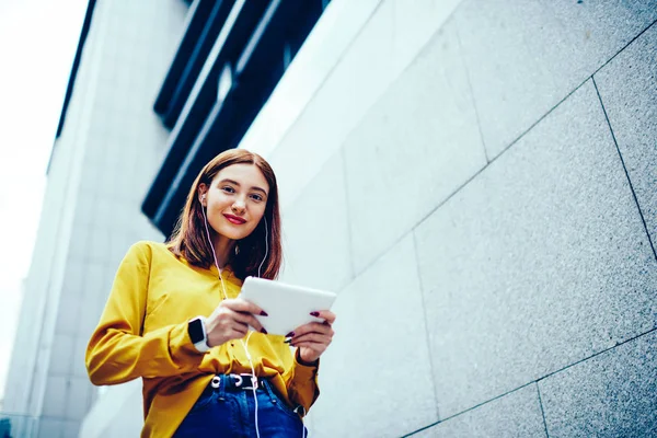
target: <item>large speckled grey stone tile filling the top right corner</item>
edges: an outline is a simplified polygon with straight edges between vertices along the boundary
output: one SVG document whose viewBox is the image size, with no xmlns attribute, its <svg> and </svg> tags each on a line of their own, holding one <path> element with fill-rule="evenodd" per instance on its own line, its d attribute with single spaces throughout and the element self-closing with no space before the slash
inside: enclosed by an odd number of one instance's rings
<svg viewBox="0 0 657 438">
<path fill-rule="evenodd" d="M 653 23 L 657 2 L 466 0 L 454 16 L 495 157 Z"/>
</svg>

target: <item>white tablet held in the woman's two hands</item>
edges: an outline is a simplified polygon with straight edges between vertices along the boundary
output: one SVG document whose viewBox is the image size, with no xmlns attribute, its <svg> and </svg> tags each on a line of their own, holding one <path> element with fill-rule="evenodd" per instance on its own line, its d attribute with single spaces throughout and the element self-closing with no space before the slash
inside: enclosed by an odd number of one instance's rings
<svg viewBox="0 0 657 438">
<path fill-rule="evenodd" d="M 255 315 L 267 333 L 285 336 L 299 325 L 323 322 L 321 318 L 311 316 L 310 312 L 330 310 L 337 296 L 324 290 L 246 277 L 240 297 L 267 312 L 267 316 Z"/>
</svg>

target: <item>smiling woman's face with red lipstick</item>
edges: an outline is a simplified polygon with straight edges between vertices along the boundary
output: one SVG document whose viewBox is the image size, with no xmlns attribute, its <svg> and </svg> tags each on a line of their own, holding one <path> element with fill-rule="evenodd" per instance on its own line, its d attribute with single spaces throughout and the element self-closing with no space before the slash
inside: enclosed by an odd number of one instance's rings
<svg viewBox="0 0 657 438">
<path fill-rule="evenodd" d="M 255 164 L 223 168 L 209 186 L 199 184 L 198 189 L 210 227 L 231 240 L 244 239 L 255 230 L 269 194 L 267 180 Z"/>
</svg>

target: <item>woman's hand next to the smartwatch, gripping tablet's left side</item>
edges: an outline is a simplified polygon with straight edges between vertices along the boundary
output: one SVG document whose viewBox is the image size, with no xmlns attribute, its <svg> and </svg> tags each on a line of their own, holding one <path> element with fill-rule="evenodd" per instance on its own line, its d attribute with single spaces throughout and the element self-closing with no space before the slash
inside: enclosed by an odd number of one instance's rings
<svg viewBox="0 0 657 438">
<path fill-rule="evenodd" d="M 208 346 L 216 347 L 231 339 L 240 339 L 246 335 L 249 326 L 267 334 L 254 314 L 267 315 L 264 310 L 241 298 L 221 301 L 206 320 Z"/>
</svg>

